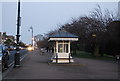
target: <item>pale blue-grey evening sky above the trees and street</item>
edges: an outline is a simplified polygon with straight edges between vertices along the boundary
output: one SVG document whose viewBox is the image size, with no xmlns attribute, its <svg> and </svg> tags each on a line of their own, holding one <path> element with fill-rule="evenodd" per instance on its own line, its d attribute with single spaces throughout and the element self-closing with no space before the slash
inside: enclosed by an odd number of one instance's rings
<svg viewBox="0 0 120 81">
<path fill-rule="evenodd" d="M 99 4 L 101 9 L 117 13 L 117 2 L 22 2 L 20 40 L 31 43 L 32 26 L 34 35 L 54 30 L 72 18 L 88 15 Z M 0 3 L 0 31 L 16 35 L 17 2 Z"/>
</svg>

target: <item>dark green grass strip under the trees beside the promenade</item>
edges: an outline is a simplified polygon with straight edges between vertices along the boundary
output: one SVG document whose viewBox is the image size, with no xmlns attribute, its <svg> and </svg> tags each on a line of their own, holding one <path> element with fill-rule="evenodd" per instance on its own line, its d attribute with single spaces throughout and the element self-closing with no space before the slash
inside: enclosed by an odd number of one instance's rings
<svg viewBox="0 0 120 81">
<path fill-rule="evenodd" d="M 72 56 L 77 57 L 77 58 L 89 58 L 89 59 L 96 59 L 96 60 L 109 60 L 109 61 L 116 60 L 114 57 L 106 55 L 106 54 L 104 54 L 104 56 L 95 57 L 92 55 L 92 53 L 88 53 L 84 51 L 76 51 L 76 54 L 73 54 L 72 52 Z"/>
</svg>

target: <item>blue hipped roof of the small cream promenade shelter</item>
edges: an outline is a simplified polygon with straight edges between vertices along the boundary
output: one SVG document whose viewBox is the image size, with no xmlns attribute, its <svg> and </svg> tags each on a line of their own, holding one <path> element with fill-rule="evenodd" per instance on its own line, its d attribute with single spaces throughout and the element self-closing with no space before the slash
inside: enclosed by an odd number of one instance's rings
<svg viewBox="0 0 120 81">
<path fill-rule="evenodd" d="M 57 33 L 49 36 L 50 38 L 78 38 L 78 36 L 71 34 L 65 30 L 58 31 Z"/>
</svg>

